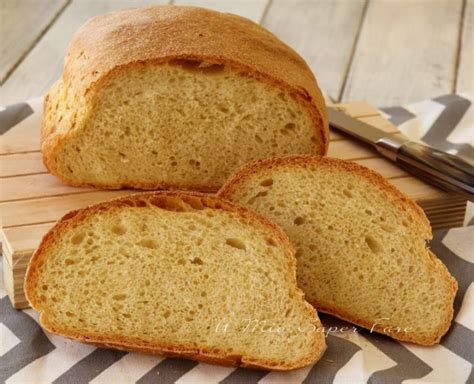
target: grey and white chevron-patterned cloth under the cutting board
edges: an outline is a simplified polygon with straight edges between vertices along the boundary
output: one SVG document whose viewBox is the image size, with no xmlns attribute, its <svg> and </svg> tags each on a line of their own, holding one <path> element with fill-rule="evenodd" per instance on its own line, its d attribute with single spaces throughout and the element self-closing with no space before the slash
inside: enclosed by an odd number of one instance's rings
<svg viewBox="0 0 474 384">
<path fill-rule="evenodd" d="M 382 112 L 412 139 L 474 160 L 474 111 L 469 98 L 448 95 Z M 28 103 L 0 111 L 0 133 L 31 113 Z M 0 382 L 472 383 L 474 222 L 470 224 L 437 231 L 431 242 L 433 252 L 459 282 L 453 325 L 437 346 L 400 343 L 321 314 L 328 349 L 318 364 L 292 372 L 219 367 L 97 349 L 51 335 L 39 327 L 36 312 L 11 307 L 1 284 Z"/>
</svg>

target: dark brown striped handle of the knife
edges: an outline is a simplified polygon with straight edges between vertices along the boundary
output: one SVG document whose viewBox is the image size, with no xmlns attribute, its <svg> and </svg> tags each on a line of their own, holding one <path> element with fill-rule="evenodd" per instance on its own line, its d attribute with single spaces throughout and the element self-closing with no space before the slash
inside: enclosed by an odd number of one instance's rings
<svg viewBox="0 0 474 384">
<path fill-rule="evenodd" d="M 460 157 L 406 141 L 397 151 L 396 162 L 416 176 L 474 201 L 474 167 Z"/>
</svg>

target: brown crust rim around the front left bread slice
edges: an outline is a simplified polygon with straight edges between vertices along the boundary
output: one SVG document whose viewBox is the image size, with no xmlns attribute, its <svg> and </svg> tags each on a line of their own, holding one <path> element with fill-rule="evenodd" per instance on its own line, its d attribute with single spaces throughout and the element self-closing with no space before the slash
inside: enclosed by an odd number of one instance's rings
<svg viewBox="0 0 474 384">
<path fill-rule="evenodd" d="M 38 301 L 38 298 L 36 297 L 35 286 L 39 274 L 39 268 L 44 262 L 44 259 L 47 254 L 47 249 L 54 245 L 56 238 L 61 233 L 61 231 L 70 225 L 77 225 L 82 220 L 99 211 L 107 211 L 110 209 L 116 209 L 124 206 L 144 207 L 148 204 L 156 205 L 162 209 L 167 209 L 171 211 L 192 211 L 200 210 L 203 208 L 212 208 L 228 212 L 235 212 L 245 219 L 254 222 L 256 221 L 260 225 L 269 228 L 274 233 L 275 237 L 281 242 L 282 246 L 285 249 L 285 254 L 288 258 L 289 279 L 294 282 L 294 286 L 296 287 L 296 259 L 294 257 L 294 251 L 290 240 L 279 226 L 272 223 L 263 216 L 248 211 L 245 208 L 242 208 L 221 198 L 198 192 L 191 193 L 180 191 L 162 191 L 137 193 L 129 196 L 120 197 L 118 199 L 105 201 L 99 204 L 91 205 L 83 209 L 71 211 L 64 215 L 56 223 L 56 225 L 51 228 L 48 233 L 46 233 L 46 235 L 43 237 L 39 247 L 34 252 L 28 264 L 25 276 L 25 295 L 31 307 L 40 312 L 40 322 L 45 329 L 58 335 L 62 335 L 71 339 L 76 339 L 101 347 L 152 354 L 163 354 L 167 356 L 185 357 L 222 365 L 253 367 L 272 370 L 291 370 L 314 363 L 321 357 L 322 353 L 325 350 L 325 340 L 322 336 L 322 333 L 319 333 L 320 342 L 314 344 L 312 354 L 310 356 L 307 356 L 306 359 L 300 361 L 298 364 L 291 365 L 285 363 L 284 361 L 263 361 L 240 355 L 229 355 L 225 351 L 216 351 L 214 349 L 199 349 L 186 345 L 168 345 L 159 342 L 145 343 L 143 340 L 139 339 L 132 340 L 131 338 L 116 338 L 109 337 L 107 335 L 85 334 L 70 329 L 60 328 L 48 322 L 48 318 L 47 316 L 45 316 L 45 312 L 42 311 L 41 304 Z M 296 288 L 296 290 L 303 298 L 304 295 L 302 291 L 299 288 Z M 321 329 L 321 323 L 316 315 L 316 311 L 314 310 L 314 308 L 306 301 L 304 301 L 304 306 L 304 310 L 307 312 L 308 317 L 312 318 L 312 324 L 314 325 L 315 329 Z"/>
</svg>

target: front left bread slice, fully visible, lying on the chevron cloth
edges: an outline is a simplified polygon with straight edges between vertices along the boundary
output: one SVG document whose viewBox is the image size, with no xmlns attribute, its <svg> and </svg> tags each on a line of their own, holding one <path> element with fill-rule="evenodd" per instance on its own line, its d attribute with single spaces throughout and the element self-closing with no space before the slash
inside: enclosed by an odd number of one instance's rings
<svg viewBox="0 0 474 384">
<path fill-rule="evenodd" d="M 197 193 L 136 194 L 64 216 L 25 292 L 43 327 L 69 338 L 289 370 L 325 349 L 295 263 L 283 231 L 257 214 Z"/>
</svg>

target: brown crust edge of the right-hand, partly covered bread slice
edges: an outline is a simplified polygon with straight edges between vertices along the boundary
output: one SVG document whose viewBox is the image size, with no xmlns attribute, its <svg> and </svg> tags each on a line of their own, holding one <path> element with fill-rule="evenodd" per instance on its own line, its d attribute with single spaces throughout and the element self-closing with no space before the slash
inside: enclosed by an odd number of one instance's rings
<svg viewBox="0 0 474 384">
<path fill-rule="evenodd" d="M 383 176 L 374 172 L 368 168 L 365 168 L 356 163 L 330 158 L 330 157 L 321 157 L 321 156 L 307 156 L 307 155 L 290 155 L 290 156 L 281 156 L 273 157 L 262 160 L 257 160 L 252 163 L 244 165 L 236 173 L 234 173 L 225 183 L 225 185 L 217 193 L 218 196 L 231 200 L 231 196 L 236 191 L 239 186 L 246 181 L 247 178 L 252 175 L 258 174 L 262 171 L 270 171 L 279 167 L 315 167 L 315 166 L 324 166 L 329 165 L 337 167 L 339 169 L 345 169 L 349 172 L 357 173 L 358 175 L 366 178 L 372 182 L 375 186 L 382 188 L 384 192 L 387 193 L 387 197 L 391 198 L 393 202 L 400 204 L 402 209 L 409 210 L 412 213 L 412 217 L 416 219 L 418 226 L 420 228 L 421 234 L 425 237 L 426 240 L 432 238 L 431 225 L 426 218 L 423 210 L 407 195 L 398 190 L 392 184 L 390 184 Z M 453 302 L 454 297 L 457 292 L 457 281 L 451 276 L 446 266 L 432 253 L 429 252 L 429 255 L 434 263 L 437 263 L 441 266 L 443 270 L 443 278 L 448 283 L 450 287 L 450 299 L 446 301 L 446 307 L 444 313 L 446 314 L 445 320 L 438 328 L 436 334 L 430 336 L 420 336 L 410 332 L 396 332 L 390 333 L 385 332 L 384 326 L 379 326 L 373 324 L 372 321 L 363 318 L 356 318 L 351 314 L 347 313 L 341 308 L 336 308 L 330 306 L 327 303 L 320 303 L 315 300 L 308 299 L 310 303 L 317 308 L 318 311 L 331 314 L 333 316 L 339 317 L 343 320 L 347 320 L 351 323 L 360 325 L 364 328 L 374 329 L 374 331 L 384 333 L 394 339 L 401 341 L 408 341 L 421 345 L 433 345 L 440 341 L 441 337 L 448 331 L 452 318 L 453 318 Z"/>
</svg>

